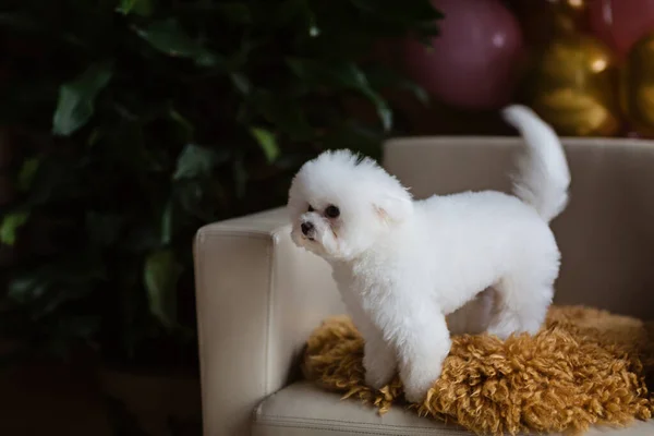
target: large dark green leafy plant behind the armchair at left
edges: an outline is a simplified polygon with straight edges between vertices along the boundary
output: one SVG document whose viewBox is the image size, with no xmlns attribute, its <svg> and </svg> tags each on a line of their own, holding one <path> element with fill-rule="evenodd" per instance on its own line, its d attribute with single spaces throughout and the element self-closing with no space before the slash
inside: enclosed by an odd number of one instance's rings
<svg viewBox="0 0 654 436">
<path fill-rule="evenodd" d="M 428 0 L 4 1 L 3 334 L 187 363 L 196 229 L 282 204 L 323 149 L 378 155 L 385 92 L 425 95 L 371 53 L 439 17 Z"/>
</svg>

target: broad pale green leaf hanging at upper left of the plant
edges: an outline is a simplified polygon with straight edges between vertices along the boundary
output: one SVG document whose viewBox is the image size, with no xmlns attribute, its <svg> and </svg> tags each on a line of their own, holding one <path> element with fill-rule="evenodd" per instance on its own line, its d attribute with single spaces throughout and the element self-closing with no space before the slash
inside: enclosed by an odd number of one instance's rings
<svg viewBox="0 0 654 436">
<path fill-rule="evenodd" d="M 52 133 L 70 136 L 84 126 L 94 112 L 98 93 L 113 75 L 113 62 L 105 61 L 89 66 L 74 81 L 59 88 L 59 101 L 52 118 Z"/>
</svg>

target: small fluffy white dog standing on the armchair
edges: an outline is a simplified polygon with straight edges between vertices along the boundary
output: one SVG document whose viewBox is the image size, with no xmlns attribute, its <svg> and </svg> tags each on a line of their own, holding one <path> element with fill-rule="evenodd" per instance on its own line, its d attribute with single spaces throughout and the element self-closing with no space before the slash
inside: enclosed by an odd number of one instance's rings
<svg viewBox="0 0 654 436">
<path fill-rule="evenodd" d="M 570 174 L 557 135 L 534 112 L 510 106 L 504 116 L 528 144 L 516 196 L 413 201 L 373 160 L 347 150 L 324 153 L 293 180 L 292 239 L 331 264 L 373 388 L 399 370 L 405 398 L 424 399 L 450 349 L 446 315 L 463 307 L 476 317 L 464 305 L 479 302 L 483 313 L 491 300 L 475 296 L 485 289 L 495 296 L 488 334 L 535 334 L 544 322 L 560 258 L 548 222 L 567 205 Z"/>
</svg>

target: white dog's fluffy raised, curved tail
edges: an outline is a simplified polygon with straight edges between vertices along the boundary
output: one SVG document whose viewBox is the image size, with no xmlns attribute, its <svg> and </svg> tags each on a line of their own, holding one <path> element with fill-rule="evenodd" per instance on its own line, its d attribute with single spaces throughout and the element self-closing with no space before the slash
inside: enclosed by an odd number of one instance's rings
<svg viewBox="0 0 654 436">
<path fill-rule="evenodd" d="M 518 161 L 513 192 L 549 222 L 568 204 L 570 170 L 564 147 L 554 130 L 528 107 L 509 106 L 502 116 L 528 145 L 526 153 Z"/>
</svg>

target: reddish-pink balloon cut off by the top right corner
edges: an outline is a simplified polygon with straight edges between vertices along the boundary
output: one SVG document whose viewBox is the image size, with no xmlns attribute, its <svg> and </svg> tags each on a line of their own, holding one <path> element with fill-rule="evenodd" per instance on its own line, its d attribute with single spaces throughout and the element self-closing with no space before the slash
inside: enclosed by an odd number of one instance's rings
<svg viewBox="0 0 654 436">
<path fill-rule="evenodd" d="M 654 0 L 592 0 L 589 8 L 592 32 L 619 57 L 654 32 Z"/>
</svg>

